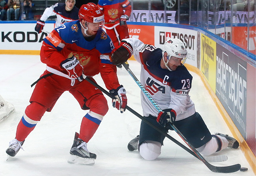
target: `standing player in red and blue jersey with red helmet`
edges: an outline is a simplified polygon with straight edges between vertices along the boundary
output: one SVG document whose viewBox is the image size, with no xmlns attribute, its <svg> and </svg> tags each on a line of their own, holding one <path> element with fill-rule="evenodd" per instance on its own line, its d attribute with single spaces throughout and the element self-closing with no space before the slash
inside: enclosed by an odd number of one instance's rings
<svg viewBox="0 0 256 176">
<path fill-rule="evenodd" d="M 87 3 L 79 10 L 79 20 L 60 25 L 44 39 L 40 56 L 47 69 L 34 88 L 31 104 L 25 109 L 7 154 L 12 157 L 17 154 L 44 113 L 50 112 L 62 93 L 69 91 L 81 109 L 90 111 L 82 119 L 80 133 L 75 133 L 68 162 L 94 164 L 96 154 L 87 150 L 87 143 L 107 113 L 108 105 L 103 93 L 84 80 L 84 75 L 95 82 L 93 76 L 101 74 L 106 88 L 116 97 L 112 100 L 113 107 L 121 113 L 127 104 L 126 91 L 116 75 L 116 65 L 110 61 L 114 45 L 103 31 L 103 25 L 104 14 L 100 8 Z"/>
</svg>

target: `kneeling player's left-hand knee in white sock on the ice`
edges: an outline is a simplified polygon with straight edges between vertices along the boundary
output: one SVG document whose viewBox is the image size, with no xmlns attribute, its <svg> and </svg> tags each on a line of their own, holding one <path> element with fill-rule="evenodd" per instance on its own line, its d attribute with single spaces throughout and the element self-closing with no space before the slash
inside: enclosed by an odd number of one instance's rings
<svg viewBox="0 0 256 176">
<path fill-rule="evenodd" d="M 156 159 L 161 154 L 161 143 L 156 141 L 145 141 L 140 147 L 140 155 L 148 161 Z"/>
</svg>

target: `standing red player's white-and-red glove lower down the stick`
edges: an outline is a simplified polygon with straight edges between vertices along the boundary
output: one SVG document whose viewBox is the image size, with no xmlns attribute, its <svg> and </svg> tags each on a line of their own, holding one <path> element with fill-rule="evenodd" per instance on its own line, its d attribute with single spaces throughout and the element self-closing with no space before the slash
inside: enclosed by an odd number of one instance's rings
<svg viewBox="0 0 256 176">
<path fill-rule="evenodd" d="M 112 106 L 113 108 L 117 108 L 120 110 L 121 113 L 123 113 L 126 109 L 127 105 L 127 97 L 126 97 L 126 91 L 125 88 L 121 85 L 116 89 L 109 90 L 109 93 L 112 96 L 115 96 L 116 99 L 112 99 Z"/>
</svg>

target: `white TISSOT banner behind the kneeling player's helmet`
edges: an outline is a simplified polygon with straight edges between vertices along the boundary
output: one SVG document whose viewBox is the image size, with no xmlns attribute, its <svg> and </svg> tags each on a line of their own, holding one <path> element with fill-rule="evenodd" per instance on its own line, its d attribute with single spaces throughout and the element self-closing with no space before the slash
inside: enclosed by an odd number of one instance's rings
<svg viewBox="0 0 256 176">
<path fill-rule="evenodd" d="M 183 28 L 155 26 L 155 46 L 162 49 L 165 40 L 178 38 L 187 49 L 186 64 L 197 67 L 197 31 Z"/>
</svg>

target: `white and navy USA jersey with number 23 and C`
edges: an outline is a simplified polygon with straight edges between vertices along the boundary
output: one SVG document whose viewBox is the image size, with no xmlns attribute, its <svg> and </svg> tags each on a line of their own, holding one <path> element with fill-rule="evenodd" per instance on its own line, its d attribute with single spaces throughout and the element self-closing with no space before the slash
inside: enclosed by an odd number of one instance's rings
<svg viewBox="0 0 256 176">
<path fill-rule="evenodd" d="M 140 83 L 163 110 L 172 108 L 176 111 L 176 120 L 182 120 L 195 113 L 194 102 L 190 99 L 192 75 L 182 65 L 175 71 L 160 67 L 162 49 L 142 43 L 136 38 L 123 39 L 133 48 L 134 58 L 141 64 Z M 141 91 L 143 115 L 157 117 L 158 110 Z"/>
</svg>

